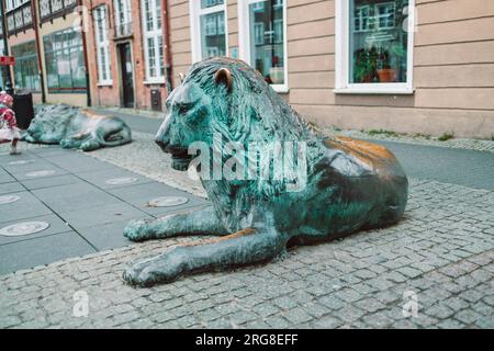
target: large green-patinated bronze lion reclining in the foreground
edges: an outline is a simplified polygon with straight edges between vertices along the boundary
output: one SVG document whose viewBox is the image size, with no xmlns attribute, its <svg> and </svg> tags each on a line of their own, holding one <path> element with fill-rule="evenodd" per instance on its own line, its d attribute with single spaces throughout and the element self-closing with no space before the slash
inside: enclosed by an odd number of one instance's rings
<svg viewBox="0 0 494 351">
<path fill-rule="evenodd" d="M 306 145 L 306 184 L 288 191 L 288 180 L 201 176 L 212 206 L 133 220 L 124 236 L 135 241 L 179 235 L 218 237 L 135 262 L 123 273 L 133 285 L 267 261 L 284 253 L 288 245 L 385 227 L 404 213 L 408 181 L 389 150 L 317 133 L 243 61 L 213 58 L 193 65 L 169 95 L 167 107 L 156 143 L 171 154 L 175 169 L 186 170 L 191 163 L 188 147 L 193 143 L 213 147 L 214 135 L 246 146 L 252 140 L 297 140 Z"/>
</svg>

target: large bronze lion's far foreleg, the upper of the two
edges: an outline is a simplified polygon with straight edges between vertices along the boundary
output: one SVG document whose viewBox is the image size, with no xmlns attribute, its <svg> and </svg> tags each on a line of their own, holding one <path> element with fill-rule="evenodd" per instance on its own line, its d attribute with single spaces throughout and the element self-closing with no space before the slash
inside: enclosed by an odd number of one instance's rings
<svg viewBox="0 0 494 351">
<path fill-rule="evenodd" d="M 158 219 L 131 220 L 124 237 L 133 241 L 162 239 L 179 235 L 226 235 L 213 206 L 184 214 L 172 214 Z"/>
</svg>

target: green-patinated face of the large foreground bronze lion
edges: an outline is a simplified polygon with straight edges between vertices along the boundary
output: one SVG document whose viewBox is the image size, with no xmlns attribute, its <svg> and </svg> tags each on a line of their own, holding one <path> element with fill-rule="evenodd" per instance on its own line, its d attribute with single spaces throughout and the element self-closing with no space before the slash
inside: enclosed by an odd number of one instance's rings
<svg viewBox="0 0 494 351">
<path fill-rule="evenodd" d="M 189 82 L 168 97 L 167 116 L 156 136 L 156 143 L 172 156 L 172 168 L 187 170 L 192 157 L 188 147 L 194 141 L 207 143 L 211 136 L 211 99 L 199 84 Z"/>
</svg>

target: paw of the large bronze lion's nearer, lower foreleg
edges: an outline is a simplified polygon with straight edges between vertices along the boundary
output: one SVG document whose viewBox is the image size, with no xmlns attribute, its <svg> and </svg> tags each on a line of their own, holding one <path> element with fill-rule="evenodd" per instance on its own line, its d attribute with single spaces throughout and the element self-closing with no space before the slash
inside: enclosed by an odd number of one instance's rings
<svg viewBox="0 0 494 351">
<path fill-rule="evenodd" d="M 173 258 L 173 253 L 164 253 L 144 259 L 128 267 L 123 279 L 131 285 L 147 287 L 157 283 L 175 281 L 183 271 L 182 258 Z"/>
</svg>

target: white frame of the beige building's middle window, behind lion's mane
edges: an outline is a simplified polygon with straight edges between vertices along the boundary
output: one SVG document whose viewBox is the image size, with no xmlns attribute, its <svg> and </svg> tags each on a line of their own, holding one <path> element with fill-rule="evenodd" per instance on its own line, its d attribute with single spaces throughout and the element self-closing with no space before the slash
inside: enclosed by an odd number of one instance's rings
<svg viewBox="0 0 494 351">
<path fill-rule="evenodd" d="M 252 3 L 263 2 L 266 0 L 239 0 L 238 2 L 238 54 L 239 57 L 251 65 L 250 63 L 250 25 L 249 25 L 249 5 Z M 288 75 L 288 39 L 287 39 L 287 2 L 283 1 L 283 84 L 271 84 L 271 88 L 281 93 L 290 91 L 289 88 L 289 75 Z M 274 5 L 281 7 L 280 1 L 277 1 Z M 274 29 L 272 29 L 274 32 Z M 274 33 L 272 33 L 274 38 Z"/>
</svg>

